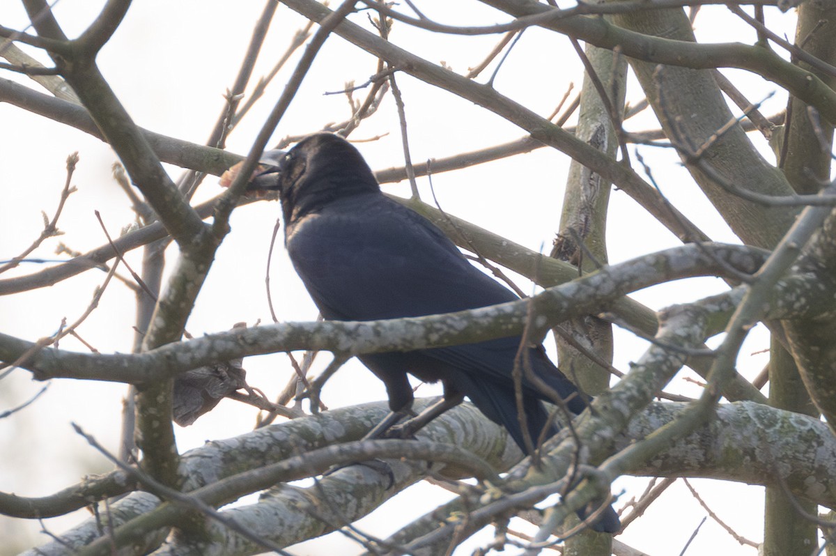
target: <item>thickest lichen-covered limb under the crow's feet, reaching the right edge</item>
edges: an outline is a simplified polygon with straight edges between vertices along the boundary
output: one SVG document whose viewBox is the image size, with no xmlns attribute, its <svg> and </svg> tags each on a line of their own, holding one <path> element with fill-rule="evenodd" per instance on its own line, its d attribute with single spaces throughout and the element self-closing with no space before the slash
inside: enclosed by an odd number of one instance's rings
<svg viewBox="0 0 836 556">
<path fill-rule="evenodd" d="M 685 406 L 679 403 L 650 404 L 645 411 L 630 421 L 624 435 L 615 439 L 613 448 L 624 448 L 658 430 L 675 420 Z M 265 427 L 227 441 L 212 442 L 184 455 L 184 469 L 187 469 L 192 477 L 191 482 L 186 483 L 186 490 L 194 490 L 201 484 L 210 484 L 234 472 L 243 472 L 262 467 L 269 462 L 281 461 L 284 457 L 292 455 L 291 445 L 295 442 L 300 443 L 297 446 L 302 451 L 308 451 L 314 446 L 359 438 L 364 428 L 368 430 L 386 411 L 385 403 L 382 402 L 326 411 L 319 416 Z M 487 428 L 482 429 L 483 426 Z M 502 429 L 487 421 L 470 406 L 461 406 L 447 412 L 419 436 L 454 443 L 481 457 L 488 457 L 497 471 L 507 468 L 514 458 L 521 456 L 512 447 L 512 443 L 507 441 Z M 289 441 L 291 438 L 293 442 Z M 497 444 L 497 441 L 501 443 Z M 511 447 L 506 451 L 502 446 Z M 783 481 L 799 497 L 807 497 L 824 505 L 833 505 L 836 504 L 836 481 L 833 480 L 836 470 L 833 469 L 833 462 L 836 462 L 836 439 L 822 422 L 761 404 L 738 402 L 719 406 L 716 420 L 702 425 L 691 435 L 668 446 L 665 451 L 631 472 L 660 477 L 711 477 L 761 485 L 775 485 Z M 402 469 L 403 472 L 410 473 L 410 478 L 403 478 L 400 474 Z M 408 472 L 405 469 L 398 467 L 399 485 L 404 481 L 414 482 L 422 472 L 426 472 L 426 468 Z M 380 495 L 386 491 L 388 478 L 368 474 L 364 470 L 348 471 L 351 480 L 361 479 L 366 487 L 373 491 L 372 494 L 367 494 L 368 498 L 363 498 L 368 500 L 369 504 L 362 506 L 362 512 L 357 516 L 351 514 L 351 517 L 358 517 L 380 503 Z M 342 479 L 340 483 L 341 487 L 345 487 Z M 304 499 L 315 503 L 316 508 L 324 506 L 324 501 L 314 490 L 308 489 Z M 299 511 L 298 508 L 294 510 L 292 506 L 288 506 L 293 500 L 298 500 L 298 491 L 280 488 L 271 493 L 268 506 L 263 507 L 265 513 L 261 516 L 257 516 L 260 509 L 258 504 L 237 510 L 236 515 L 245 518 L 253 527 L 266 529 L 272 526 L 273 531 L 268 531 L 267 538 L 283 538 L 288 544 L 307 538 L 297 539 L 293 528 L 306 531 L 310 530 L 309 528 L 317 528 L 319 531 L 325 531 L 341 524 L 322 523 L 315 515 Z M 317 500 L 319 503 L 315 502 Z M 339 504 L 339 498 L 332 500 L 336 502 L 337 507 L 344 508 Z M 112 505 L 111 512 L 116 520 L 115 524 L 125 523 L 130 518 L 158 508 L 159 503 L 150 494 L 136 492 L 124 501 Z M 268 508 L 284 509 L 283 513 L 278 514 L 272 509 L 268 511 Z M 441 527 L 454 526 L 456 523 L 451 522 Z M 234 533 L 219 531 L 218 534 L 225 539 L 222 546 L 225 546 L 228 552 L 223 552 L 224 554 L 232 556 L 257 553 L 253 551 L 255 547 L 244 543 Z M 70 531 L 64 538 L 72 539 L 72 546 L 80 547 L 98 535 L 97 526 L 91 520 L 88 524 Z M 405 539 L 399 539 L 403 540 Z M 188 546 L 188 540 L 181 538 L 177 546 Z M 236 547 L 240 547 L 240 551 Z M 71 553 L 71 548 L 60 543 L 48 544 L 38 550 L 41 554 L 49 556 Z M 36 552 L 31 551 L 26 553 L 26 556 L 34 554 Z"/>
</svg>

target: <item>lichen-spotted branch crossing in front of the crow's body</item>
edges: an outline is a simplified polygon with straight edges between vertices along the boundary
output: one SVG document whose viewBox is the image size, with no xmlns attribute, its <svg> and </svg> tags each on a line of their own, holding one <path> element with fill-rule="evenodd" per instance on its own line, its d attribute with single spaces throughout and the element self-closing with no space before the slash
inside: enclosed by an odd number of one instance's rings
<svg viewBox="0 0 836 556">
<path fill-rule="evenodd" d="M 576 314 L 597 313 L 617 298 L 655 283 L 723 275 L 729 265 L 752 273 L 761 253 L 741 246 L 686 245 L 605 267 L 531 298 L 538 319 L 554 324 Z M 68 377 L 147 384 L 178 372 L 245 355 L 331 349 L 347 354 L 466 344 L 520 334 L 528 300 L 460 313 L 370 322 L 270 324 L 171 343 L 135 355 L 88 355 L 43 349 L 23 365 L 39 379 Z M 539 323 L 538 323 L 539 324 Z M 33 344 L 0 334 L 0 360 L 16 360 Z"/>
</svg>

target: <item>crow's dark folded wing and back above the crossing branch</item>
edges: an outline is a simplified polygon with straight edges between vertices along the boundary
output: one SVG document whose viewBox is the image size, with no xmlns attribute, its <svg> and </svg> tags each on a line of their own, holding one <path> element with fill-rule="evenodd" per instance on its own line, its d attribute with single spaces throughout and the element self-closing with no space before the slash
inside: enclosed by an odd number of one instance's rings
<svg viewBox="0 0 836 556">
<path fill-rule="evenodd" d="M 436 227 L 380 194 L 334 201 L 303 218 L 287 246 L 327 319 L 450 313 L 516 299 Z"/>
</svg>

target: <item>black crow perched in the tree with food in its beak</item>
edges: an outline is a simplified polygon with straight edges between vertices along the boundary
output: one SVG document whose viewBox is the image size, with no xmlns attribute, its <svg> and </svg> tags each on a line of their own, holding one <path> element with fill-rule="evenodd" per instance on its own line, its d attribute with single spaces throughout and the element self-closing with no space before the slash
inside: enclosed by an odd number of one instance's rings
<svg viewBox="0 0 836 556">
<path fill-rule="evenodd" d="M 255 178 L 250 188 L 278 189 L 288 254 L 325 319 L 416 317 L 517 299 L 469 263 L 426 218 L 384 196 L 359 151 L 339 135 L 310 135 L 278 156 L 278 165 Z M 422 414 L 422 421 L 416 418 L 420 422 L 412 431 L 467 396 L 528 452 L 511 375 L 520 341 L 516 336 L 360 355 L 383 381 L 393 412 L 375 431 L 385 431 L 410 412 L 410 373 L 444 386 L 444 400 Z M 584 396 L 548 360 L 543 346 L 528 350 L 533 372 L 566 400 L 569 411 L 584 411 Z M 548 426 L 541 400 L 548 401 L 548 395 L 523 380 L 523 409 L 534 443 Z M 548 431 L 549 436 L 554 432 Z M 619 518 L 608 508 L 593 527 L 614 533 Z"/>
</svg>

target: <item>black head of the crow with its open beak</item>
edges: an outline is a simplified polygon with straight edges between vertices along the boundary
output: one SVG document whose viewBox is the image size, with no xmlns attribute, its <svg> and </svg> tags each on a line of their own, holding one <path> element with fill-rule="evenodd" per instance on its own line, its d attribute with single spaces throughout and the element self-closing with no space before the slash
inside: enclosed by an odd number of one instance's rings
<svg viewBox="0 0 836 556">
<path fill-rule="evenodd" d="M 269 150 L 262 164 L 265 169 L 252 179 L 248 189 L 278 191 L 287 223 L 329 201 L 380 191 L 359 151 L 332 133 L 308 135 L 286 153 Z"/>
</svg>

